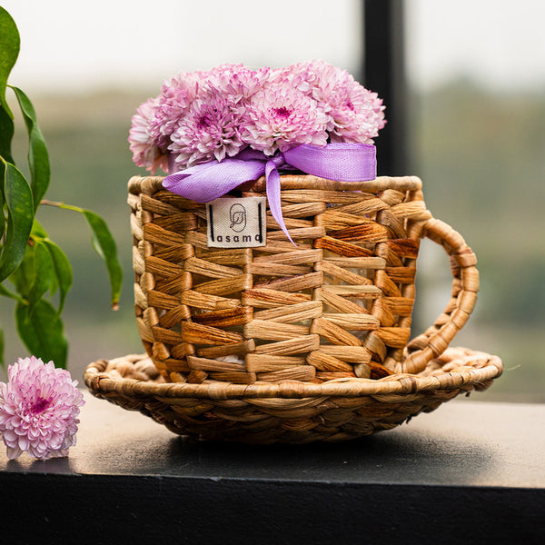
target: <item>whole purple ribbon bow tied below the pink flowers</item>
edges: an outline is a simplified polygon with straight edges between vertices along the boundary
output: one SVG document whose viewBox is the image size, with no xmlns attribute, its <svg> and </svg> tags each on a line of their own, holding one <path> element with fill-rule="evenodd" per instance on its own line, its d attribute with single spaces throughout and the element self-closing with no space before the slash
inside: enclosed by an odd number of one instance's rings
<svg viewBox="0 0 545 545">
<path fill-rule="evenodd" d="M 301 144 L 272 157 L 248 148 L 221 163 L 197 164 L 170 174 L 163 187 L 197 203 L 208 203 L 265 174 L 272 217 L 293 243 L 282 217 L 278 169 L 298 169 L 337 182 L 366 182 L 375 179 L 376 166 L 376 149 L 371 144 Z"/>
</svg>

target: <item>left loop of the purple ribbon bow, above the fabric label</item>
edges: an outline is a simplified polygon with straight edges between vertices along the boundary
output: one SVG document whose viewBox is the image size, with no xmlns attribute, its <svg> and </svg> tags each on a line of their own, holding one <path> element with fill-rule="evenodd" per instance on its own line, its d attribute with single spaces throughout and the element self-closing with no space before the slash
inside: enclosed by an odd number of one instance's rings
<svg viewBox="0 0 545 545">
<path fill-rule="evenodd" d="M 225 159 L 192 166 L 166 176 L 163 187 L 197 203 L 209 203 L 229 193 L 241 183 L 257 180 L 263 175 L 263 161 Z"/>
</svg>

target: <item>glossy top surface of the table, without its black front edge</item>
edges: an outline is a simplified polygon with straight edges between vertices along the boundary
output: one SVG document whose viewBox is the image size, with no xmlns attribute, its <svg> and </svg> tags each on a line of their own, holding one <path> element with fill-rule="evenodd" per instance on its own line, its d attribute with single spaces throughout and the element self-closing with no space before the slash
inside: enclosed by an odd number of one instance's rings
<svg viewBox="0 0 545 545">
<path fill-rule="evenodd" d="M 391 431 L 307 445 L 188 440 L 86 392 L 80 420 L 68 458 L 1 452 L 0 471 L 545 488 L 545 405 L 459 399 Z"/>
</svg>

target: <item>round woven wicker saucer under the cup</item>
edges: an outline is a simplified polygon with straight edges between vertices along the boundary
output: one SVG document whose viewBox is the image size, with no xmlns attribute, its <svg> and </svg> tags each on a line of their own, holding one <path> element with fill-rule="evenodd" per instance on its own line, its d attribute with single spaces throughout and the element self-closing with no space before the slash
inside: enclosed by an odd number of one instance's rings
<svg viewBox="0 0 545 545">
<path fill-rule="evenodd" d="M 145 356 L 87 366 L 89 390 L 170 431 L 213 441 L 304 443 L 344 441 L 391 430 L 460 393 L 486 390 L 502 372 L 500 358 L 449 348 L 419 374 L 322 383 L 164 382 Z"/>
</svg>

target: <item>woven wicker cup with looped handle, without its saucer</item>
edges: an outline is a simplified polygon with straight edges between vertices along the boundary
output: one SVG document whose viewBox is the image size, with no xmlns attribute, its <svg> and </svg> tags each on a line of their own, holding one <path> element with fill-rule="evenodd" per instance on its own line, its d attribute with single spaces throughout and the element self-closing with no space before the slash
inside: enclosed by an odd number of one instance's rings
<svg viewBox="0 0 545 545">
<path fill-rule="evenodd" d="M 476 301 L 476 258 L 434 219 L 414 176 L 342 183 L 282 175 L 290 243 L 270 212 L 263 247 L 207 246 L 206 213 L 162 187 L 129 182 L 138 330 L 163 380 L 302 384 L 419 373 L 441 355 Z M 244 196 L 264 196 L 265 180 Z M 420 241 L 451 258 L 451 300 L 410 341 Z"/>
</svg>

